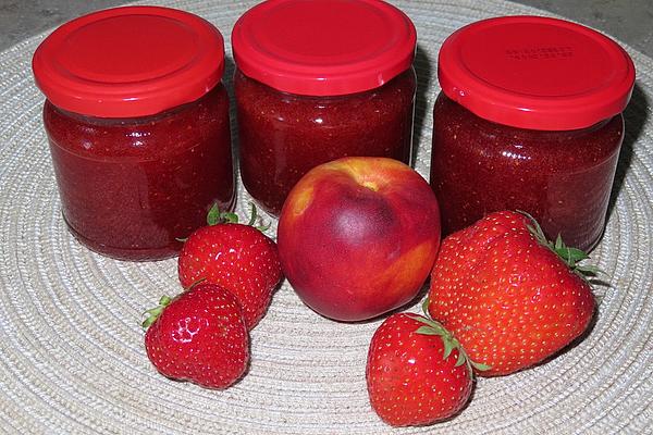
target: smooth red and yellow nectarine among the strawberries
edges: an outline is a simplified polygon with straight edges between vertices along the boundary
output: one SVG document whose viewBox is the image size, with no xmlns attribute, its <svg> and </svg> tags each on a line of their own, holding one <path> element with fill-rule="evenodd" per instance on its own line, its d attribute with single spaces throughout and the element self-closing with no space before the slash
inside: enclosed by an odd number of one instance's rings
<svg viewBox="0 0 653 435">
<path fill-rule="evenodd" d="M 399 161 L 338 159 L 295 185 L 278 244 L 307 306 L 335 320 L 370 319 L 419 293 L 440 247 L 440 209 L 429 184 Z"/>
</svg>

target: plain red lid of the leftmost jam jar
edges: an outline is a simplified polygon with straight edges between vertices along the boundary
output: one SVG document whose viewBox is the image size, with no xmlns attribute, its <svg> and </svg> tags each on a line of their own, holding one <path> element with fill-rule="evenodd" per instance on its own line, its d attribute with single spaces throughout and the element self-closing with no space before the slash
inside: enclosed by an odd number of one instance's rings
<svg viewBox="0 0 653 435">
<path fill-rule="evenodd" d="M 57 107 L 100 117 L 151 115 L 194 101 L 224 72 L 209 22 L 158 7 L 109 9 L 73 20 L 34 53 L 34 76 Z"/>
</svg>

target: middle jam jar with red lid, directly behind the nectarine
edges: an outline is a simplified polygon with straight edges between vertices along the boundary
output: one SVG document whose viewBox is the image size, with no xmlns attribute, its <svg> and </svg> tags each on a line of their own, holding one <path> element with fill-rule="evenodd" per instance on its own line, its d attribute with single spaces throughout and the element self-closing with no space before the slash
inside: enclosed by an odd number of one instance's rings
<svg viewBox="0 0 653 435">
<path fill-rule="evenodd" d="M 346 156 L 410 162 L 416 30 L 379 0 L 270 0 L 235 24 L 243 185 L 279 215 L 313 166 Z"/>
</svg>

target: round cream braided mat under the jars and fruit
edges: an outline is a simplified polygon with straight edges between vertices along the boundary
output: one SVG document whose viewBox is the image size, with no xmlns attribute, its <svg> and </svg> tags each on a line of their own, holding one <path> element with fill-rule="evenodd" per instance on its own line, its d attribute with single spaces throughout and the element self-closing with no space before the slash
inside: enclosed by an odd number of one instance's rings
<svg viewBox="0 0 653 435">
<path fill-rule="evenodd" d="M 415 165 L 427 177 L 444 38 L 483 17 L 542 12 L 501 0 L 395 3 L 418 28 Z M 254 2 L 164 4 L 229 36 Z M 381 320 L 330 322 L 287 283 L 252 332 L 250 370 L 234 387 L 207 390 L 156 372 L 139 322 L 162 294 L 181 290 L 175 260 L 106 259 L 66 232 L 41 125 L 44 97 L 29 66 L 42 37 L 0 53 L 0 433 L 653 433 L 652 59 L 630 50 L 638 82 L 607 229 L 593 253 L 609 285 L 595 288 L 601 304 L 591 334 L 544 365 L 479 380 L 470 405 L 448 422 L 391 430 L 371 410 L 365 382 Z M 241 186 L 238 207 L 246 204 Z"/>
</svg>

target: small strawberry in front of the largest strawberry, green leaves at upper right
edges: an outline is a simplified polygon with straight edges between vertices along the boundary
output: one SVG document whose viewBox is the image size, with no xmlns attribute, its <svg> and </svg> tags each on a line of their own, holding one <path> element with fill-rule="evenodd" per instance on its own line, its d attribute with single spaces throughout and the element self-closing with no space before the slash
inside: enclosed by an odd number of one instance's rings
<svg viewBox="0 0 653 435">
<path fill-rule="evenodd" d="M 393 426 L 431 424 L 456 414 L 471 394 L 471 374 L 458 341 L 419 314 L 391 315 L 370 343 L 370 403 Z"/>
</svg>

